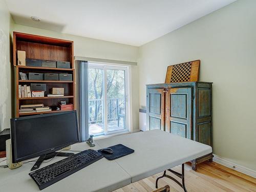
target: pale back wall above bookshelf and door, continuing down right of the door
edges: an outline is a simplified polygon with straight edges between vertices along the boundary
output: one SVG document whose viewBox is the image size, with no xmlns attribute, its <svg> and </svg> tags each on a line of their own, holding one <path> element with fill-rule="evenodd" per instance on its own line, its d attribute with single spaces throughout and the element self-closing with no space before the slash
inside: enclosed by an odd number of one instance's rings
<svg viewBox="0 0 256 192">
<path fill-rule="evenodd" d="M 115 42 L 97 40 L 76 35 L 62 34 L 54 31 L 43 30 L 23 25 L 12 24 L 12 31 L 37 34 L 74 41 L 74 55 L 112 60 L 137 62 L 138 47 L 117 44 Z M 12 32 L 11 32 L 12 33 Z M 139 95 L 138 95 L 138 66 L 132 66 L 132 116 L 133 131 L 139 130 Z"/>
</svg>

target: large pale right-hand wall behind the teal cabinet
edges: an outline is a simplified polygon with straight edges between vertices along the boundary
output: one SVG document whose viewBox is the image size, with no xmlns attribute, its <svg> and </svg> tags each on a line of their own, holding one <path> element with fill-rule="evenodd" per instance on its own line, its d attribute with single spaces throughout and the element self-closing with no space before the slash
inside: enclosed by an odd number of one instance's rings
<svg viewBox="0 0 256 192">
<path fill-rule="evenodd" d="M 256 170 L 256 1 L 240 0 L 140 47 L 140 105 L 145 84 L 163 83 L 166 67 L 201 59 L 213 84 L 214 153 Z"/>
</svg>

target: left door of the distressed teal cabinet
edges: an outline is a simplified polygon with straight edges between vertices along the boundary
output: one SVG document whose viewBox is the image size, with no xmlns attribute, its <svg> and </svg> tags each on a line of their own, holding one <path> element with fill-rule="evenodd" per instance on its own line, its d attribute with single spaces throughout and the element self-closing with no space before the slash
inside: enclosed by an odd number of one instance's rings
<svg viewBox="0 0 256 192">
<path fill-rule="evenodd" d="M 147 130 L 164 130 L 164 89 L 147 89 Z"/>
</svg>

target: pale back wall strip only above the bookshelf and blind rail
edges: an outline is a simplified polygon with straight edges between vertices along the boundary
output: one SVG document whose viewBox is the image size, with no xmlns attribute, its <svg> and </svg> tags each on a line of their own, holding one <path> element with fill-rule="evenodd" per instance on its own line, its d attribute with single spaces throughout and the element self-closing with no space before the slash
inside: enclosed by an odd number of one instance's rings
<svg viewBox="0 0 256 192">
<path fill-rule="evenodd" d="M 138 47 L 135 46 L 64 34 L 17 24 L 13 25 L 13 31 L 73 40 L 75 56 L 95 57 L 133 62 L 137 62 L 138 58 Z"/>
</svg>

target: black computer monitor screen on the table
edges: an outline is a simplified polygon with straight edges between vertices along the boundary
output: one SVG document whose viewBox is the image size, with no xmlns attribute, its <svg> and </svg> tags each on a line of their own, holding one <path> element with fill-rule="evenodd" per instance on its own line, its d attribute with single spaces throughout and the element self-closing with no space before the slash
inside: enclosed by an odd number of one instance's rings
<svg viewBox="0 0 256 192">
<path fill-rule="evenodd" d="M 60 150 L 79 141 L 76 111 L 11 120 L 13 162 Z"/>
</svg>

